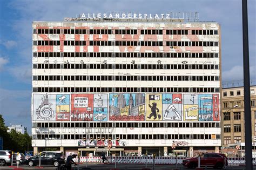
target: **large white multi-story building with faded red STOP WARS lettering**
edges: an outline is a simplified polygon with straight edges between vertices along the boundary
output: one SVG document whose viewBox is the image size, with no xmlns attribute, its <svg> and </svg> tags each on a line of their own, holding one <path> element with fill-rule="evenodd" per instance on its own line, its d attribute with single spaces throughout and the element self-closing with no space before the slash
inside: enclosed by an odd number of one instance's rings
<svg viewBox="0 0 256 170">
<path fill-rule="evenodd" d="M 219 151 L 218 23 L 88 17 L 32 28 L 35 153 Z"/>
</svg>

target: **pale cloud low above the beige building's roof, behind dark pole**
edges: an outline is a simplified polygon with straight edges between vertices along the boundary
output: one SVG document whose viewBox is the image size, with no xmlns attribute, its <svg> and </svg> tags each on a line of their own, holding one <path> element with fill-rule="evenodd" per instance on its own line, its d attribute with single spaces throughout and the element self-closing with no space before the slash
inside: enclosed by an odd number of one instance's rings
<svg viewBox="0 0 256 170">
<path fill-rule="evenodd" d="M 255 79 L 256 66 L 250 66 L 250 78 Z M 244 79 L 244 67 L 241 65 L 233 66 L 230 70 L 223 71 L 222 73 L 223 81 L 236 81 Z"/>
</svg>

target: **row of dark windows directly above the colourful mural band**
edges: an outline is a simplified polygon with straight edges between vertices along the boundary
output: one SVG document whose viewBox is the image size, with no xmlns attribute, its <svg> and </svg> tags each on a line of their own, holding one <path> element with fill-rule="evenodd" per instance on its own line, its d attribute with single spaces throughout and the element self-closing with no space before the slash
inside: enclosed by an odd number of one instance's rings
<svg viewBox="0 0 256 170">
<path fill-rule="evenodd" d="M 33 92 L 171 92 L 214 93 L 213 87 L 33 87 Z"/>
</svg>

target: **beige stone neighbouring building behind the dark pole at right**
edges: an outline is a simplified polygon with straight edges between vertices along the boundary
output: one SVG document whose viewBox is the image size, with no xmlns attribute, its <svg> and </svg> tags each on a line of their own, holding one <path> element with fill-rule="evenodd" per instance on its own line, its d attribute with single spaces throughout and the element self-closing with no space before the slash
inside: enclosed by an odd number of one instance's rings
<svg viewBox="0 0 256 170">
<path fill-rule="evenodd" d="M 256 157 L 256 86 L 251 86 L 251 115 L 252 115 L 252 145 L 253 158 Z M 222 90 L 221 142 L 222 146 L 240 146 L 239 156 L 245 153 L 245 114 L 244 87 L 232 87 Z"/>
</svg>

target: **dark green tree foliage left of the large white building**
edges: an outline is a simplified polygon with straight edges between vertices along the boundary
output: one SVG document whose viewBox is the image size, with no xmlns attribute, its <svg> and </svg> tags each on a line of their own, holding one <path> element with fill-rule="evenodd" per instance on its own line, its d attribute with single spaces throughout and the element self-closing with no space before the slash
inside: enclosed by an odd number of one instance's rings
<svg viewBox="0 0 256 170">
<path fill-rule="evenodd" d="M 8 149 L 14 152 L 31 151 L 31 137 L 28 133 L 22 134 L 21 132 L 16 132 L 11 130 L 7 132 L 8 127 L 4 124 L 3 116 L 0 114 L 0 136 L 3 138 L 3 149 Z"/>
</svg>

